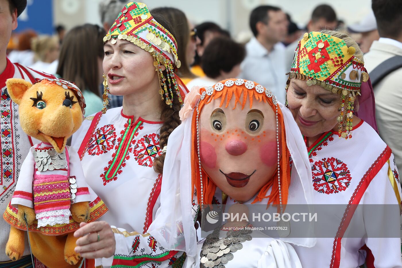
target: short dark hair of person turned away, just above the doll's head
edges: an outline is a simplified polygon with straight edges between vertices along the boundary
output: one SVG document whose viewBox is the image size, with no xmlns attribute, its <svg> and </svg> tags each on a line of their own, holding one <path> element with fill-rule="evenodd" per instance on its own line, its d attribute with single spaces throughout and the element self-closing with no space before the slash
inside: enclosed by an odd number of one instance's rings
<svg viewBox="0 0 402 268">
<path fill-rule="evenodd" d="M 243 45 L 228 37 L 215 37 L 205 47 L 201 57 L 201 68 L 206 76 L 217 78 L 221 71 L 230 72 L 246 56 Z"/>
</svg>

